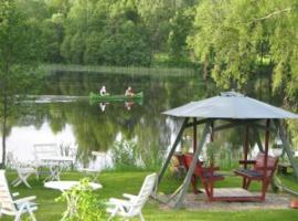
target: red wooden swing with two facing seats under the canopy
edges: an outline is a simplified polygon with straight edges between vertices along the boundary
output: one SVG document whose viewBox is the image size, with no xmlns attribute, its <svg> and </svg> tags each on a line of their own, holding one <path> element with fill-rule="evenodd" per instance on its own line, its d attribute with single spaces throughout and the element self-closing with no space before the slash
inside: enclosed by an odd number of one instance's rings
<svg viewBox="0 0 298 221">
<path fill-rule="evenodd" d="M 269 122 L 269 120 L 267 120 Z M 267 123 L 268 124 L 268 123 Z M 211 139 L 213 141 L 213 127 L 211 127 Z M 193 136 L 195 137 L 196 131 L 194 130 Z M 265 152 L 258 152 L 256 160 L 247 160 L 248 152 L 248 126 L 246 126 L 246 136 L 244 143 L 244 160 L 240 160 L 243 168 L 234 170 L 236 176 L 243 177 L 242 188 L 221 188 L 215 189 L 214 182 L 224 180 L 224 176 L 217 173 L 219 167 L 214 167 L 213 162 L 210 167 L 204 167 L 202 161 L 198 161 L 194 168 L 194 172 L 191 178 L 191 183 L 193 192 L 198 194 L 200 190 L 196 188 L 196 179 L 201 180 L 202 188 L 204 189 L 205 196 L 209 201 L 264 201 L 266 191 L 273 178 L 273 175 L 277 168 L 278 158 L 268 156 L 268 130 L 266 131 L 265 138 Z M 196 140 L 194 139 L 193 147 L 196 146 Z M 194 149 L 195 151 L 195 149 Z M 184 154 L 179 156 L 180 161 L 184 165 L 187 171 L 189 170 L 191 162 L 193 160 L 192 154 Z M 253 165 L 248 168 L 248 165 Z M 266 176 L 265 176 L 266 175 Z M 260 193 L 249 192 L 248 188 L 252 181 L 262 182 Z"/>
</svg>

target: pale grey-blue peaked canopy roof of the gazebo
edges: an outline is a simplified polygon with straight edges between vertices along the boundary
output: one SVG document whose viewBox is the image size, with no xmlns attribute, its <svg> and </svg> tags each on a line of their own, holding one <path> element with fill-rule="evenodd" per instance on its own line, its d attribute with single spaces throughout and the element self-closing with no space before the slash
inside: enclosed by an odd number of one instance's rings
<svg viewBox="0 0 298 221">
<path fill-rule="evenodd" d="M 220 96 L 191 102 L 162 114 L 177 117 L 232 119 L 298 118 L 297 114 L 235 92 L 225 92 Z"/>
</svg>

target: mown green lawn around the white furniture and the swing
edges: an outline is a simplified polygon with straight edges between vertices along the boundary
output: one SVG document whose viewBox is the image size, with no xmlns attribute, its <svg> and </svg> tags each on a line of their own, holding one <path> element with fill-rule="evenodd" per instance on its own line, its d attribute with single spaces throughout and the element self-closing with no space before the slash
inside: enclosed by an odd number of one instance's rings
<svg viewBox="0 0 298 221">
<path fill-rule="evenodd" d="M 95 191 L 100 199 L 108 199 L 109 197 L 120 198 L 124 192 L 137 193 L 145 176 L 149 172 L 104 172 L 99 176 L 99 182 L 103 185 L 103 189 Z M 11 181 L 15 178 L 15 173 L 8 172 L 8 179 Z M 78 180 L 82 176 L 78 172 L 67 172 L 62 176 L 62 180 Z M 240 187 L 237 178 L 231 177 L 228 181 L 221 182 L 219 187 Z M 173 190 L 180 185 L 181 181 L 166 177 L 162 181 L 159 191 L 166 193 L 173 192 Z M 12 192 L 20 192 L 21 197 L 35 194 L 38 197 L 39 210 L 35 212 L 38 220 L 40 221 L 56 221 L 62 217 L 62 212 L 66 209 L 66 206 L 62 202 L 55 202 L 61 192 L 45 189 L 42 181 L 35 181 L 34 178 L 30 179 L 30 183 L 33 189 L 28 189 L 24 186 L 18 188 L 11 188 Z M 288 180 L 288 185 L 297 186 L 297 182 Z M 253 189 L 258 188 L 253 186 Z M 181 210 L 160 210 L 158 204 L 147 203 L 142 210 L 145 219 L 149 220 L 202 220 L 202 221 L 242 221 L 242 220 L 268 220 L 268 221 L 297 221 L 298 210 L 251 210 L 251 211 L 188 211 Z M 8 217 L 2 217 L 1 221 L 12 220 Z M 135 219 L 137 220 L 137 219 Z"/>
</svg>

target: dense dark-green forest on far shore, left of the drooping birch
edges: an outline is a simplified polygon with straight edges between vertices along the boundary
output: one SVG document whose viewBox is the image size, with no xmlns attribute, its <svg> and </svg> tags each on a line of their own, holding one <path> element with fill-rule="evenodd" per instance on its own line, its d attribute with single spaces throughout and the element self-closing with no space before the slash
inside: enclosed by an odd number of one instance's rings
<svg viewBox="0 0 298 221">
<path fill-rule="evenodd" d="M 180 64 L 194 0 L 18 0 L 36 21 L 44 62 L 149 66 L 155 55 Z"/>
</svg>

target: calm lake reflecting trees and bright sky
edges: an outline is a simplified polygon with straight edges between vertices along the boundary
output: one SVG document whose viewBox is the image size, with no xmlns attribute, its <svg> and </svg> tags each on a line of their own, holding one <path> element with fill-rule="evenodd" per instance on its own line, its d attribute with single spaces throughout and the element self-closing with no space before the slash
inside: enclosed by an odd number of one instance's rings
<svg viewBox="0 0 298 221">
<path fill-rule="evenodd" d="M 136 93 L 143 92 L 145 96 L 134 104 L 89 104 L 89 92 L 98 92 L 103 85 L 110 94 L 124 94 L 131 86 Z M 161 77 L 55 72 L 43 81 L 40 95 L 46 96 L 17 104 L 21 110 L 10 120 L 8 156 L 32 162 L 34 144 L 54 143 L 62 147 L 64 154 L 67 148 L 75 149 L 77 161 L 84 166 L 93 162 L 92 151 L 96 150 L 107 156 L 105 165 L 98 166 L 97 162 L 97 167 L 113 166 L 111 161 L 116 161 L 119 165 L 156 168 L 163 160 L 181 125 L 180 119 L 161 113 L 217 94 L 219 90 L 213 84 L 204 84 L 199 74 Z M 221 133 L 216 139 L 225 143 L 233 140 L 238 149 L 242 144 L 240 133 L 228 130 Z"/>
</svg>

